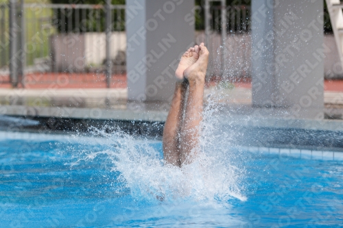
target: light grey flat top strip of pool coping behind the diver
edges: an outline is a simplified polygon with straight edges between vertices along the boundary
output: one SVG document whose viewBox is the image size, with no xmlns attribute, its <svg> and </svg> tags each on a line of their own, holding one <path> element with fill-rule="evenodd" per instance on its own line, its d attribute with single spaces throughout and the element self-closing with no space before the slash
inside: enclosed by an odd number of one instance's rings
<svg viewBox="0 0 343 228">
<path fill-rule="evenodd" d="M 0 114 L 8 116 L 40 116 L 49 118 L 80 118 L 115 121 L 165 122 L 168 112 L 148 109 L 105 109 L 88 107 L 39 107 L 25 105 L 0 105 Z M 276 118 L 270 116 L 244 116 L 230 114 L 230 120 L 222 118 L 223 123 L 254 127 L 279 127 L 295 129 L 316 129 L 343 131 L 343 121 L 328 119 Z"/>
</svg>

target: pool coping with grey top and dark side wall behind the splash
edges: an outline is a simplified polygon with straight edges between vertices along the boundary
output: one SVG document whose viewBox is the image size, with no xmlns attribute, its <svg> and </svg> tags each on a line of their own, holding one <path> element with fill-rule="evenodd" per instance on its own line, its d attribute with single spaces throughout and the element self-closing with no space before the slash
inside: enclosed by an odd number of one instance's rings
<svg viewBox="0 0 343 228">
<path fill-rule="evenodd" d="M 1 105 L 0 114 L 33 121 L 40 125 L 0 127 L 5 131 L 31 131 L 49 134 L 89 132 L 91 127 L 161 140 L 167 112 L 160 110 L 99 109 L 76 107 L 31 107 Z M 343 151 L 343 121 L 275 118 L 228 114 L 218 117 L 220 125 L 240 132 L 235 144 L 248 147 L 279 147 L 319 151 Z M 0 121 L 1 124 L 1 121 Z M 270 137 L 270 132 L 274 136 Z M 324 136 L 324 137 L 323 137 Z M 298 142 L 302 138 L 305 145 Z"/>
</svg>

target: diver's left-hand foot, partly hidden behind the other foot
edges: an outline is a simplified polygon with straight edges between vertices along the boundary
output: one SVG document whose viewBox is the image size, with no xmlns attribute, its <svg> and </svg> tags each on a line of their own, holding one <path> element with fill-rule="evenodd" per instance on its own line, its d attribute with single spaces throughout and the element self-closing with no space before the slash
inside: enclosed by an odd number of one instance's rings
<svg viewBox="0 0 343 228">
<path fill-rule="evenodd" d="M 191 47 L 190 49 L 188 49 L 182 55 L 180 63 L 178 64 L 178 68 L 175 72 L 175 77 L 177 81 L 183 81 L 185 79 L 185 77 L 183 76 L 184 71 L 198 60 L 199 51 L 200 47 L 196 45 L 195 47 Z"/>
</svg>

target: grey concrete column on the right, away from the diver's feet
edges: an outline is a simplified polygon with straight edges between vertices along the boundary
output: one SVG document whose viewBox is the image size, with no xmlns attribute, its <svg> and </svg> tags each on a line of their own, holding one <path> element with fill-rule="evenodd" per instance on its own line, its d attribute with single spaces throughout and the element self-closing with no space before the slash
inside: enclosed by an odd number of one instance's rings
<svg viewBox="0 0 343 228">
<path fill-rule="evenodd" d="M 322 118 L 322 0 L 252 0 L 252 105 Z"/>
</svg>

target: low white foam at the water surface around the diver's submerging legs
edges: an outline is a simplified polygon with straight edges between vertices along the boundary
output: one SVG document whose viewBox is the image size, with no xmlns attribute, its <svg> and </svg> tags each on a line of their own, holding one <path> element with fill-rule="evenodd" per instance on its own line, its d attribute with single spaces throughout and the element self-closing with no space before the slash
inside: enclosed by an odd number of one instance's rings
<svg viewBox="0 0 343 228">
<path fill-rule="evenodd" d="M 89 153 L 84 159 L 108 155 L 114 164 L 113 170 L 121 173 L 119 179 L 130 188 L 134 198 L 214 201 L 235 197 L 246 200 L 236 184 L 237 168 L 224 166 L 206 153 L 201 153 L 192 164 L 179 168 L 164 164 L 161 151 L 154 149 L 149 140 L 138 141 L 120 132 L 106 134 L 106 137 L 118 143 L 117 150 Z"/>
</svg>

